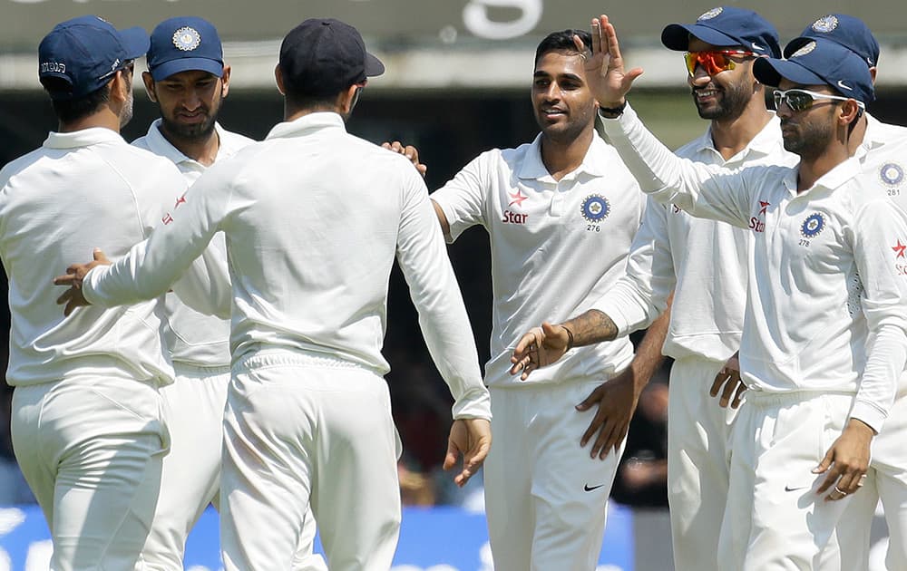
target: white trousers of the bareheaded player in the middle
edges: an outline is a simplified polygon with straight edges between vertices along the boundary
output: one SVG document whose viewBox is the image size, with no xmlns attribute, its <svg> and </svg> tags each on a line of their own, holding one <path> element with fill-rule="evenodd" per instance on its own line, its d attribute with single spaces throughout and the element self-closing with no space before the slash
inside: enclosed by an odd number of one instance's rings
<svg viewBox="0 0 907 571">
<path fill-rule="evenodd" d="M 484 486 L 495 571 L 591 571 L 598 565 L 624 445 L 605 460 L 590 458 L 591 444 L 580 448 L 596 409 L 574 407 L 599 385 L 491 388 L 494 445 Z"/>
</svg>

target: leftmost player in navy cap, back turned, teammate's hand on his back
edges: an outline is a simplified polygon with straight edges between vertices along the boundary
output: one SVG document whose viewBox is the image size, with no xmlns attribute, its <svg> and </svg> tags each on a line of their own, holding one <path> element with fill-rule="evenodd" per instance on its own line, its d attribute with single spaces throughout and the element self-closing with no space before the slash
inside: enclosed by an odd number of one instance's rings
<svg viewBox="0 0 907 571">
<path fill-rule="evenodd" d="M 13 444 L 50 527 L 52 569 L 135 568 L 169 446 L 158 302 L 67 316 L 48 304 L 54 266 L 92 247 L 122 256 L 186 189 L 171 162 L 120 136 L 148 42 L 93 15 L 57 24 L 38 47 L 38 77 L 59 129 L 0 171 Z"/>
</svg>

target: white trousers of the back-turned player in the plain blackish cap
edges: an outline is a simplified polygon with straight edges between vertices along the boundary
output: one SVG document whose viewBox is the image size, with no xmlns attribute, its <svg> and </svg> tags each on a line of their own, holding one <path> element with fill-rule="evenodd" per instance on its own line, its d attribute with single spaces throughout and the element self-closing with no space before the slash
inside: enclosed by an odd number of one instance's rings
<svg viewBox="0 0 907 571">
<path fill-rule="evenodd" d="M 309 353 L 233 368 L 220 537 L 228 571 L 290 569 L 309 504 L 331 571 L 387 571 L 400 529 L 400 440 L 383 378 Z"/>
</svg>

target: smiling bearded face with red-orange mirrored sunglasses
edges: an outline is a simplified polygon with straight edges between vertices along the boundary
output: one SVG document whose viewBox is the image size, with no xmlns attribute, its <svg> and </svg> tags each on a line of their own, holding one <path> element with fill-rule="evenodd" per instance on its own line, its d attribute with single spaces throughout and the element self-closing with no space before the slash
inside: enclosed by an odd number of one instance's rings
<svg viewBox="0 0 907 571">
<path fill-rule="evenodd" d="M 690 52 L 708 52 L 739 47 L 720 47 L 706 44 L 697 38 L 690 38 Z M 753 56 L 727 55 L 734 63 L 734 69 L 708 74 L 702 65 L 697 65 L 693 75 L 688 77 L 693 102 L 699 117 L 708 120 L 733 120 L 746 109 L 754 95 L 756 78 L 753 76 Z"/>
</svg>

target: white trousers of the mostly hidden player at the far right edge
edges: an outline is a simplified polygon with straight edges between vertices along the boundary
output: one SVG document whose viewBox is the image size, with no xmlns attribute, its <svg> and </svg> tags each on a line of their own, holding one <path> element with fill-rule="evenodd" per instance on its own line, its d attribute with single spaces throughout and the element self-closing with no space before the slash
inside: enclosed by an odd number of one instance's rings
<svg viewBox="0 0 907 571">
<path fill-rule="evenodd" d="M 907 396 L 894 402 L 882 432 L 873 439 L 863 488 L 853 494 L 838 523 L 842 569 L 869 569 L 869 533 L 880 498 L 889 532 L 885 568 L 907 570 Z"/>
</svg>

